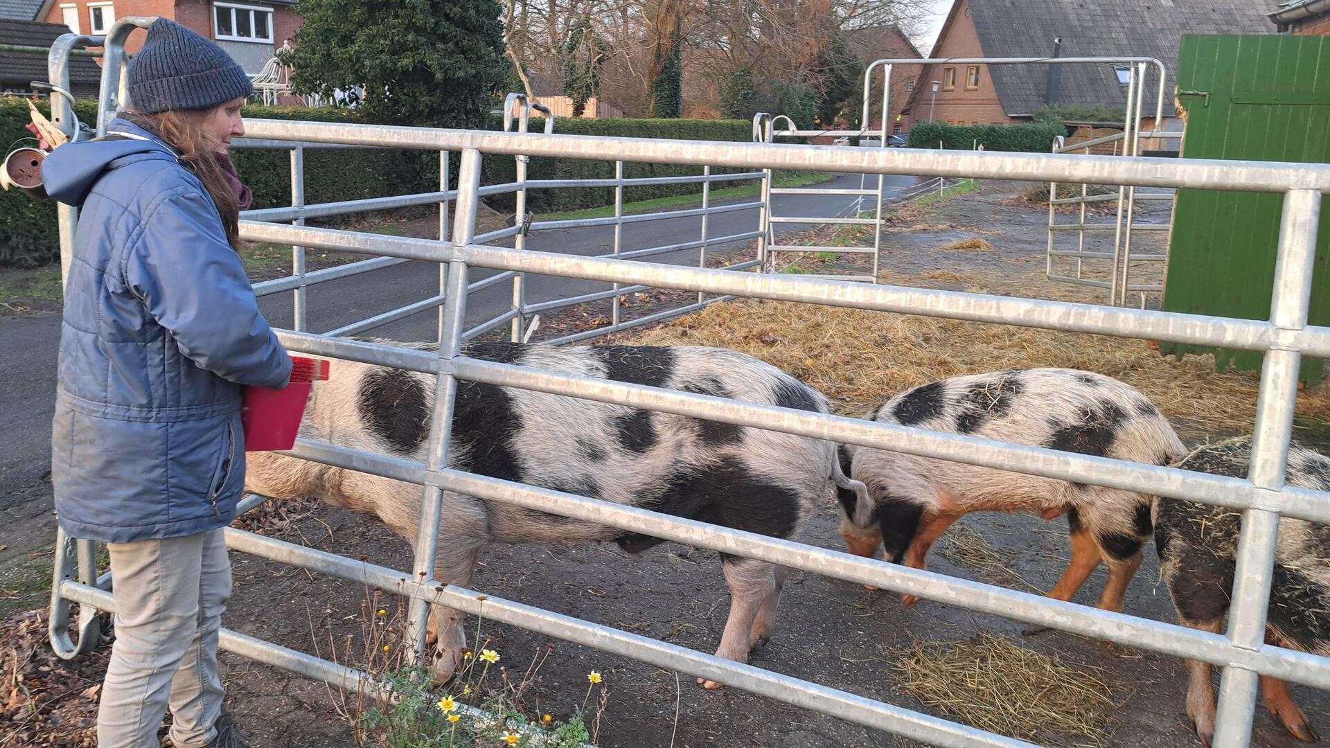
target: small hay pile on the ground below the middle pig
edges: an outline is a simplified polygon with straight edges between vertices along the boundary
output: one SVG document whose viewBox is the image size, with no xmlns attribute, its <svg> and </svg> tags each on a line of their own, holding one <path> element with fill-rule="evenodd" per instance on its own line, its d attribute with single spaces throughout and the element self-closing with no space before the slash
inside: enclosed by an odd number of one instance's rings
<svg viewBox="0 0 1330 748">
<path fill-rule="evenodd" d="M 900 691 L 967 724 L 1024 740 L 1107 743 L 1117 704 L 1103 671 L 1072 667 L 992 634 L 915 642 L 894 663 Z"/>
</svg>

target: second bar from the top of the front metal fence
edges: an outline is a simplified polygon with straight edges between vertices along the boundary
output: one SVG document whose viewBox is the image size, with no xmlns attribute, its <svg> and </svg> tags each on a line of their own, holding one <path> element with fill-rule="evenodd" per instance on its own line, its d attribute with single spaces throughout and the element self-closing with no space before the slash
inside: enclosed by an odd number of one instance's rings
<svg viewBox="0 0 1330 748">
<path fill-rule="evenodd" d="M 1309 326 L 1303 330 L 1275 330 L 1269 322 L 1257 319 L 1108 307 L 1092 303 L 971 294 L 939 289 L 890 286 L 884 283 L 842 283 L 813 277 L 737 273 L 725 269 L 684 268 L 632 260 L 571 257 L 548 252 L 481 245 L 456 248 L 451 242 L 360 234 L 335 229 L 315 229 L 311 226 L 255 224 L 250 221 L 241 224 L 241 236 L 246 240 L 275 241 L 351 252 L 372 252 L 432 262 L 462 260 L 481 268 L 520 270 L 540 276 L 640 283 L 689 291 L 733 294 L 746 298 L 799 301 L 826 306 L 923 314 L 1021 327 L 1095 333 L 1241 350 L 1267 350 L 1273 345 L 1279 345 L 1283 347 L 1298 347 L 1306 355 L 1330 358 L 1330 329 Z"/>
</svg>

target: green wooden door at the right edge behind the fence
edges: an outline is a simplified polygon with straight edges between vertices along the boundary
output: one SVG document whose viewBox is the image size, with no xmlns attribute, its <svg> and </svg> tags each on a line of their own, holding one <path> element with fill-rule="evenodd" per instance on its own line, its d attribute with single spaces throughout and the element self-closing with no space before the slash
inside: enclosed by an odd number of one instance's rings
<svg viewBox="0 0 1330 748">
<path fill-rule="evenodd" d="M 1330 37 L 1182 37 L 1177 100 L 1186 110 L 1184 158 L 1330 162 Z M 1294 185 L 1289 185 L 1294 186 Z M 1173 204 L 1169 311 L 1270 318 L 1283 197 L 1180 189 Z M 1330 325 L 1330 210 L 1322 210 L 1311 287 L 1311 325 Z M 1220 370 L 1256 370 L 1261 354 L 1214 351 Z M 1305 359 L 1302 381 L 1321 381 L 1323 362 Z"/>
</svg>

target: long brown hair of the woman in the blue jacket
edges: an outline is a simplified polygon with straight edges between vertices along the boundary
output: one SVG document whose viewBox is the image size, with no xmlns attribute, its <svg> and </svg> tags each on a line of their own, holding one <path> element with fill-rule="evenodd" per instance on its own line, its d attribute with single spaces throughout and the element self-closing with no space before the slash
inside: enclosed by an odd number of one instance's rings
<svg viewBox="0 0 1330 748">
<path fill-rule="evenodd" d="M 166 141 L 166 145 L 176 150 L 180 162 L 203 182 L 203 189 L 213 197 L 217 213 L 222 218 L 226 241 L 239 252 L 241 209 L 219 162 L 219 154 L 226 146 L 217 142 L 205 126 L 207 113 L 206 109 L 197 112 L 169 109 L 152 114 L 125 112 L 121 116 Z"/>
</svg>

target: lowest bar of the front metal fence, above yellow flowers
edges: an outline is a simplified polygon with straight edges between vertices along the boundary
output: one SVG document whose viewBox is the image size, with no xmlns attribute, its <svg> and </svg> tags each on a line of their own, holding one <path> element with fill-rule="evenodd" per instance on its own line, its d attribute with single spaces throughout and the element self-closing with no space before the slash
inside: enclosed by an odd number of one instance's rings
<svg viewBox="0 0 1330 748">
<path fill-rule="evenodd" d="M 487 620 L 496 620 L 528 631 L 556 636 L 565 642 L 628 656 L 688 675 L 708 677 L 777 701 L 817 709 L 857 724 L 904 735 L 916 740 L 939 744 L 964 741 L 974 745 L 1003 748 L 1031 745 L 1020 740 L 991 735 L 826 685 L 725 660 L 714 655 L 706 655 L 608 626 L 524 606 L 479 591 L 443 586 L 435 580 L 418 583 L 408 574 L 396 570 L 352 562 L 326 551 L 285 543 L 273 538 L 254 535 L 253 532 L 227 528 L 226 544 L 231 550 L 243 554 L 299 566 L 384 591 L 395 591 L 411 598 L 420 598 L 463 614 L 484 616 Z"/>
</svg>

